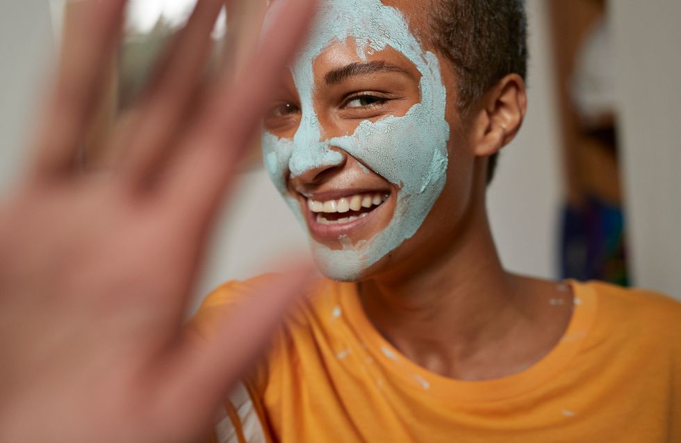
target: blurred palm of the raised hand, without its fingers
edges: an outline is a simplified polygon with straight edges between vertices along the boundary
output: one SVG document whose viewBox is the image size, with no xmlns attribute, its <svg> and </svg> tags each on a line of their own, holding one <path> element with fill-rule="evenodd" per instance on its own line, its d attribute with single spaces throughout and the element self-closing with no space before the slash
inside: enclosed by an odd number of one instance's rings
<svg viewBox="0 0 681 443">
<path fill-rule="evenodd" d="M 186 412 L 208 403 L 169 392 L 183 383 L 180 374 L 174 383 L 161 381 L 170 362 L 159 356 L 177 344 L 181 301 L 196 265 L 192 242 L 161 210 L 102 200 L 114 192 L 106 187 L 47 190 L 21 199 L 3 219 L 10 234 L 2 237 L 3 290 L 27 299 L 0 314 L 3 329 L 15 331 L 3 334 L 3 359 L 17 367 L 3 374 L 3 392 L 30 410 L 49 411 L 56 435 L 71 428 L 95 433 L 102 424 L 129 433 L 129 423 L 122 425 L 133 417 L 145 417 L 136 424 L 142 431 L 156 416 L 173 424 L 157 441 L 187 441 L 205 423 L 192 423 Z"/>
</svg>

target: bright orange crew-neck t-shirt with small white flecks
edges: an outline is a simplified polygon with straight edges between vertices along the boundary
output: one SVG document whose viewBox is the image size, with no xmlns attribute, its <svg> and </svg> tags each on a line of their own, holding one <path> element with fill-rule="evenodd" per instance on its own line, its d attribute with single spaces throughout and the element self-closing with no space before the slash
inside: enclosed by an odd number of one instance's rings
<svg viewBox="0 0 681 443">
<path fill-rule="evenodd" d="M 322 281 L 245 383 L 253 405 L 228 402 L 233 440 L 224 422 L 218 440 L 249 441 L 237 412 L 253 406 L 265 438 L 252 441 L 681 443 L 681 303 L 570 284 L 573 316 L 547 356 L 512 376 L 459 381 L 391 346 L 356 285 Z M 220 287 L 197 321 L 248 290 Z"/>
</svg>

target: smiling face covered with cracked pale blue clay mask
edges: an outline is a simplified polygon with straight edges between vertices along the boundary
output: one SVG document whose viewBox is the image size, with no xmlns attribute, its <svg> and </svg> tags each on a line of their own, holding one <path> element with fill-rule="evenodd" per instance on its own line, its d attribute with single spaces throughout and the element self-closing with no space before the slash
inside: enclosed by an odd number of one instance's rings
<svg viewBox="0 0 681 443">
<path fill-rule="evenodd" d="M 445 189 L 441 62 L 397 8 L 325 1 L 285 83 L 265 119 L 265 167 L 322 272 L 358 280 L 423 230 Z"/>
</svg>

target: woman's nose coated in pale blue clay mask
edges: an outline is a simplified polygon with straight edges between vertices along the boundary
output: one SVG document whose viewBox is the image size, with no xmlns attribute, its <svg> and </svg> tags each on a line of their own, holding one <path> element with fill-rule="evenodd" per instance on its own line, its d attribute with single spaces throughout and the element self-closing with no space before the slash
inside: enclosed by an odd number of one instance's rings
<svg viewBox="0 0 681 443">
<path fill-rule="evenodd" d="M 343 167 L 347 154 L 331 147 L 328 140 L 321 140 L 317 117 L 303 115 L 300 126 L 293 136 L 293 152 L 288 162 L 290 178 L 302 184 L 318 183 L 332 170 Z"/>
</svg>

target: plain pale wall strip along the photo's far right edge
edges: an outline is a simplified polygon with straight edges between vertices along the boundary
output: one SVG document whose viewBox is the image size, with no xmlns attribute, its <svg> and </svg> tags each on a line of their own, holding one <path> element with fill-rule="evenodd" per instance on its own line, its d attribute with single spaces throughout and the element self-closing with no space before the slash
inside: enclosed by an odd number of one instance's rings
<svg viewBox="0 0 681 443">
<path fill-rule="evenodd" d="M 610 8 L 634 283 L 681 299 L 681 1 Z"/>
</svg>

